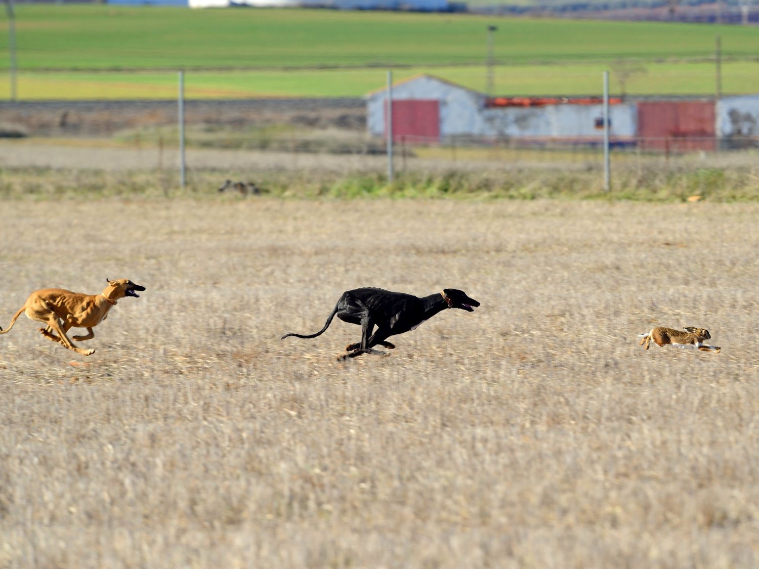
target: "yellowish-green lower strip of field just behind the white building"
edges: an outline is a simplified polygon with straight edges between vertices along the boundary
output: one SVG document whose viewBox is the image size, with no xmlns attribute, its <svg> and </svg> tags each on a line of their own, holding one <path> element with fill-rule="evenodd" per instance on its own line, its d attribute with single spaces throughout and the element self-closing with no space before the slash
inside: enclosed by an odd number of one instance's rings
<svg viewBox="0 0 759 569">
<path fill-rule="evenodd" d="M 713 64 L 663 62 L 641 64 L 628 78 L 629 95 L 711 95 Z M 621 93 L 619 74 L 603 62 L 562 65 L 499 66 L 494 75 L 499 95 L 586 95 L 600 93 L 602 73 L 609 69 L 612 93 Z M 395 80 L 430 73 L 474 90 L 484 90 L 483 66 L 452 65 L 439 68 L 401 68 Z M 723 64 L 723 93 L 757 90 L 759 61 Z M 356 97 L 386 84 L 386 70 L 379 68 L 283 71 L 187 71 L 185 95 L 191 99 L 244 99 L 247 97 Z M 18 96 L 29 99 L 173 99 L 177 95 L 176 71 L 139 72 L 24 72 L 18 78 Z M 8 74 L 0 73 L 0 99 L 10 94 Z"/>
</svg>

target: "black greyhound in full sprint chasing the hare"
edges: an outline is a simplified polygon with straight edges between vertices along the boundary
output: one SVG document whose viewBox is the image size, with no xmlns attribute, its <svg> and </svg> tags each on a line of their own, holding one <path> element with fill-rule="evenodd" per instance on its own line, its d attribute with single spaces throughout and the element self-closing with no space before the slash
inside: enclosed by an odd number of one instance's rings
<svg viewBox="0 0 759 569">
<path fill-rule="evenodd" d="M 327 318 L 324 328 L 316 334 L 285 334 L 296 338 L 316 338 L 322 335 L 335 314 L 343 322 L 361 325 L 361 342 L 349 344 L 345 348 L 351 351 L 339 357 L 345 360 L 347 357 L 356 357 L 361 354 L 376 354 L 387 356 L 387 352 L 373 350 L 372 347 L 381 344 L 392 350 L 395 346 L 385 341 L 389 336 L 403 334 L 415 329 L 425 320 L 428 320 L 446 308 L 460 308 L 468 312 L 474 312 L 474 308 L 480 303 L 470 298 L 464 291 L 457 288 L 445 288 L 442 292 L 430 294 L 428 297 L 415 297 L 413 294 L 402 292 L 384 291 L 382 288 L 356 288 L 342 294 L 335 304 L 335 310 Z M 376 325 L 376 332 L 372 329 Z"/>
</svg>

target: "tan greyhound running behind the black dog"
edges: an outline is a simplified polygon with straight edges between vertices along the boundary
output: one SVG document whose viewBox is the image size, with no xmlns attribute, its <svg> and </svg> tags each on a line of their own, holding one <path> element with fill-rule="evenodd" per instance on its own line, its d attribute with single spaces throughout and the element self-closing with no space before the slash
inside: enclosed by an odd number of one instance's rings
<svg viewBox="0 0 759 569">
<path fill-rule="evenodd" d="M 69 350 L 90 356 L 95 353 L 94 349 L 82 350 L 76 347 L 68 338 L 66 332 L 71 327 L 86 328 L 86 336 L 74 336 L 76 341 L 91 340 L 95 338 L 93 327 L 108 317 L 109 310 L 115 307 L 116 301 L 123 297 L 139 298 L 137 291 L 144 291 L 145 287 L 135 285 L 128 278 L 120 278 L 118 281 L 109 281 L 106 290 L 100 294 L 80 294 L 65 291 L 62 288 L 43 288 L 29 295 L 24 306 L 11 319 L 11 325 L 7 330 L 0 328 L 0 334 L 11 332 L 11 328 L 21 313 L 46 324 L 39 332 L 49 340 L 60 342 Z M 55 332 L 55 333 L 53 333 Z"/>
</svg>

